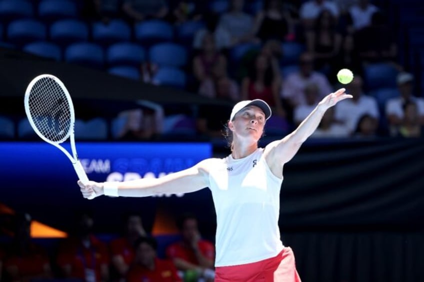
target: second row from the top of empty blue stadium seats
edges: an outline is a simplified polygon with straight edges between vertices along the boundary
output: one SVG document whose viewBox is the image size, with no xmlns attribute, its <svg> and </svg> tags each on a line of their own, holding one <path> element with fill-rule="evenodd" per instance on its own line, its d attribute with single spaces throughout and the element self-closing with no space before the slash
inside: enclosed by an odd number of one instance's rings
<svg viewBox="0 0 424 282">
<path fill-rule="evenodd" d="M 47 39 L 60 45 L 76 41 L 95 41 L 102 45 L 118 41 L 136 41 L 145 45 L 175 41 L 191 45 L 191 38 L 202 26 L 200 21 L 189 21 L 178 25 L 175 31 L 173 25 L 155 19 L 138 22 L 133 28 L 121 19 L 91 24 L 79 19 L 60 19 L 50 24 L 36 19 L 17 19 L 4 26 L 3 37 L 16 45 Z"/>
</svg>

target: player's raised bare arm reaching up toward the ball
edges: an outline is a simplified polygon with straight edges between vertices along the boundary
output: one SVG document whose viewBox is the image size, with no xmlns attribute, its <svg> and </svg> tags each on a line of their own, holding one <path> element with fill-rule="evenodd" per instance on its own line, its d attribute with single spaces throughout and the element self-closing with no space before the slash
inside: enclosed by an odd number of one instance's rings
<svg viewBox="0 0 424 282">
<path fill-rule="evenodd" d="M 315 109 L 299 124 L 290 134 L 281 140 L 269 143 L 265 148 L 265 156 L 268 165 L 282 166 L 291 160 L 299 150 L 302 143 L 315 131 L 325 111 L 337 102 L 352 98 L 346 94 L 344 88 L 325 96 Z"/>
</svg>

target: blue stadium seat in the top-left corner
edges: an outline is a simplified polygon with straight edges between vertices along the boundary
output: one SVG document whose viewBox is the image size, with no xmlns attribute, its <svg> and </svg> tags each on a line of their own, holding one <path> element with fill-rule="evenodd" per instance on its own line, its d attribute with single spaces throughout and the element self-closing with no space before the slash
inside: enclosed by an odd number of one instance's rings
<svg viewBox="0 0 424 282">
<path fill-rule="evenodd" d="M 31 1 L 26 0 L 1 0 L 0 22 L 8 23 L 15 19 L 30 18 L 34 16 Z"/>
</svg>

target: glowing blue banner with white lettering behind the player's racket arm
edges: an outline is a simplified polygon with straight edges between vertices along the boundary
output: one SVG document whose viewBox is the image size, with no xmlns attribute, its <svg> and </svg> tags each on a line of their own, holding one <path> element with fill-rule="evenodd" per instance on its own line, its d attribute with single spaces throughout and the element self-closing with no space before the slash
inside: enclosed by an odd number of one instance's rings
<svg viewBox="0 0 424 282">
<path fill-rule="evenodd" d="M 63 146 L 70 152 L 68 144 Z M 98 182 L 158 178 L 212 156 L 212 146 L 208 143 L 78 141 L 76 149 L 88 178 Z M 17 211 L 29 212 L 35 219 L 54 227 L 66 228 L 64 222 L 71 221 L 75 213 L 85 209 L 99 213 L 98 226 L 109 232 L 107 224 L 128 210 L 142 213 L 149 225 L 158 204 L 165 204 L 171 212 L 180 206 L 196 209 L 196 205 L 201 207 L 204 201 L 211 204 L 208 189 L 190 193 L 192 195 L 86 200 L 79 192 L 71 162 L 54 146 L 45 142 L 0 142 L 0 156 L 0 202 Z"/>
</svg>

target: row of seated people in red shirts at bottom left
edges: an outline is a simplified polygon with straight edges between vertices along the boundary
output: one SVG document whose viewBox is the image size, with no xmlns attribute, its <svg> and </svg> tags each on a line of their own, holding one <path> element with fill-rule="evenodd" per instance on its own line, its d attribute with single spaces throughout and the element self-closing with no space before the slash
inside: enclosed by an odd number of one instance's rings
<svg viewBox="0 0 424 282">
<path fill-rule="evenodd" d="M 10 240 L 0 245 L 0 281 L 213 282 L 214 245 L 201 237 L 194 215 L 181 214 L 179 235 L 167 243 L 146 232 L 137 213 L 107 239 L 96 235 L 94 221 L 81 212 L 67 238 L 44 246 L 30 237 L 31 216 L 16 215 Z"/>
</svg>

